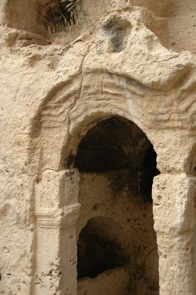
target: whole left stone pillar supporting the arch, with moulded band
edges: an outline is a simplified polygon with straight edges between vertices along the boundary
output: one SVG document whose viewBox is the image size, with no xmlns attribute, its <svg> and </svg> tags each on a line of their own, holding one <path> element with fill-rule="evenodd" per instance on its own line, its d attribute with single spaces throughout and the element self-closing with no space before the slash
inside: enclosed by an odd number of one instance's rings
<svg viewBox="0 0 196 295">
<path fill-rule="evenodd" d="M 48 170 L 37 181 L 34 295 L 77 295 L 79 179 L 77 170 Z"/>
</svg>

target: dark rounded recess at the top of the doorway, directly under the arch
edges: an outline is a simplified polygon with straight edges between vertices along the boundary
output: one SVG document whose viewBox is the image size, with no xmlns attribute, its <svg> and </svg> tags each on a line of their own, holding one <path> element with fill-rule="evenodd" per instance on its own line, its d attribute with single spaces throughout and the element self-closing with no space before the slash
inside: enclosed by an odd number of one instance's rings
<svg viewBox="0 0 196 295">
<path fill-rule="evenodd" d="M 98 122 L 82 139 L 75 167 L 79 171 L 98 172 L 132 169 L 140 174 L 140 192 L 145 201 L 152 201 L 153 178 L 159 175 L 157 154 L 143 131 L 122 117 Z"/>
</svg>

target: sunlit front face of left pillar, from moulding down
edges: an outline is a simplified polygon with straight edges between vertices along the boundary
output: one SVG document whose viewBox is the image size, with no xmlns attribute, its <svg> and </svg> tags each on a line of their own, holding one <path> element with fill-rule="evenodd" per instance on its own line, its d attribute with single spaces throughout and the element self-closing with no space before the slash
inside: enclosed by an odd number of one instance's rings
<svg viewBox="0 0 196 295">
<path fill-rule="evenodd" d="M 56 293 L 60 283 L 59 223 L 61 216 L 36 214 L 34 295 Z"/>
</svg>

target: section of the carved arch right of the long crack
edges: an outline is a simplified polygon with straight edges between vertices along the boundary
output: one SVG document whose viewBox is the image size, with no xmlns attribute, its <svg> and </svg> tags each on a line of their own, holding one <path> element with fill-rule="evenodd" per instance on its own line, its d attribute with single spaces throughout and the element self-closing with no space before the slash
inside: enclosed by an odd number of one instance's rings
<svg viewBox="0 0 196 295">
<path fill-rule="evenodd" d="M 68 148 L 72 161 L 80 140 L 87 131 L 97 122 L 113 116 L 127 118 L 138 125 L 154 146 L 156 143 L 150 128 L 146 126 L 144 110 L 137 100 L 133 100 L 132 106 L 129 106 L 133 96 L 140 101 L 146 92 L 153 92 L 153 90 L 126 76 L 110 72 L 88 73 L 84 76 L 80 99 L 76 101 L 70 113 L 70 134 L 75 138 L 75 145 Z M 68 162 L 70 165 L 70 161 Z M 70 167 L 69 165 L 67 167 Z"/>
</svg>

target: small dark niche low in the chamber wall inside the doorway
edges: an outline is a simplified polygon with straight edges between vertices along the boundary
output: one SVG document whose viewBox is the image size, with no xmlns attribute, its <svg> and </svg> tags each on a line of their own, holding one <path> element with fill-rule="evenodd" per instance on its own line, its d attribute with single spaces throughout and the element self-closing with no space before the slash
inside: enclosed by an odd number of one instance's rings
<svg viewBox="0 0 196 295">
<path fill-rule="evenodd" d="M 126 265 L 127 258 L 117 233 L 111 235 L 113 220 L 93 217 L 82 229 L 78 240 L 78 279 L 95 278 L 107 269 Z"/>
</svg>

